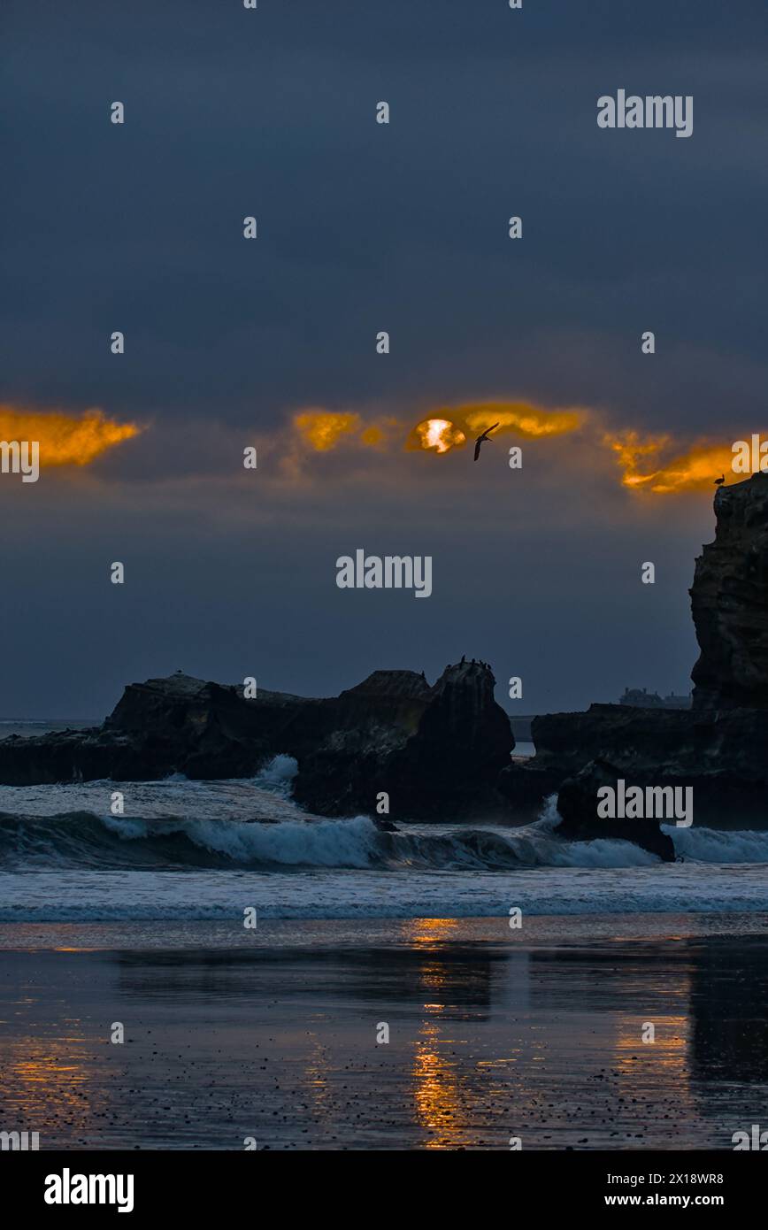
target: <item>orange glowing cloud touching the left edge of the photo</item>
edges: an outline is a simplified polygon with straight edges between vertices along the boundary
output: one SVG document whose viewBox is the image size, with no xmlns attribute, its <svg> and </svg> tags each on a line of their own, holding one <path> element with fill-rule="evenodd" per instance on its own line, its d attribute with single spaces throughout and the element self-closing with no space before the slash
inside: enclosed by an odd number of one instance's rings
<svg viewBox="0 0 768 1230">
<path fill-rule="evenodd" d="M 142 430 L 135 423 L 116 423 L 100 410 L 84 415 L 62 411 L 44 413 L 0 405 L 1 440 L 37 440 L 41 469 L 58 465 L 90 465 L 107 449 L 129 440 Z"/>
</svg>

